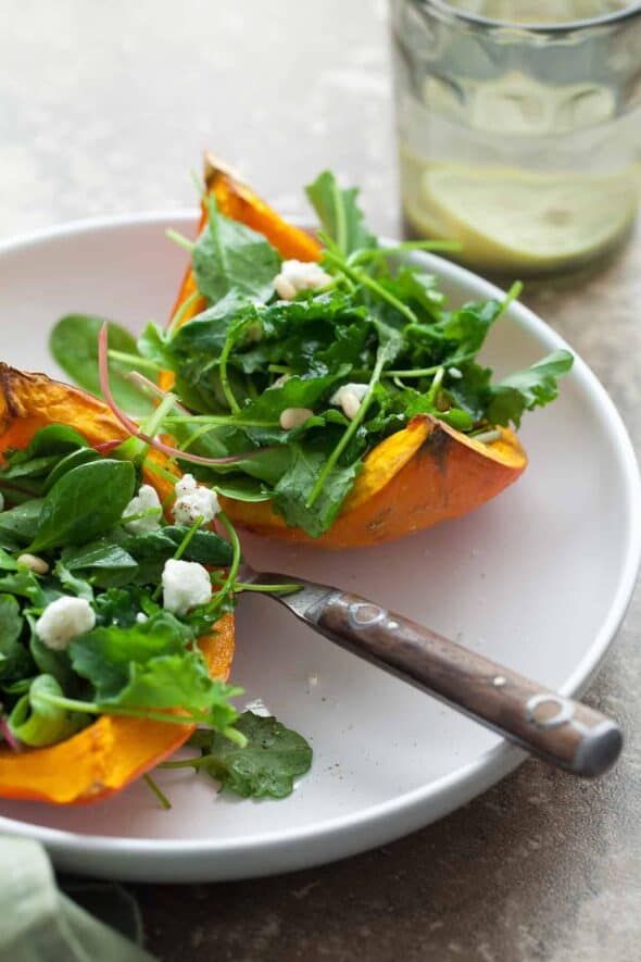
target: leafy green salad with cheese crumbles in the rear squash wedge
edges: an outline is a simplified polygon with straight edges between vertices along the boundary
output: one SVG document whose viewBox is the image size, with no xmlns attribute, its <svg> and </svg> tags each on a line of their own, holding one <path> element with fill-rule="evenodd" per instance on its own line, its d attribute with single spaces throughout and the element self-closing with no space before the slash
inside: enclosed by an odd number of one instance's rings
<svg viewBox="0 0 641 962">
<path fill-rule="evenodd" d="M 51 350 L 78 384 L 108 390 L 121 415 L 149 412 L 158 403 L 151 382 L 172 372 L 162 427 L 175 447 L 164 450 L 219 492 L 271 500 L 288 525 L 318 537 L 365 454 L 412 417 L 430 414 L 491 442 L 495 426 L 518 427 L 525 411 L 556 397 L 573 358 L 554 351 L 493 379 L 478 354 L 519 285 L 502 300 L 452 308 L 438 277 L 412 259 L 442 243 L 382 247 L 357 191 L 328 172 L 307 197 L 320 224 L 319 264 L 282 261 L 209 196 L 196 242 L 173 234 L 190 251 L 197 292 L 167 329 L 150 323 L 137 341 L 109 324 L 110 388 L 104 371 L 99 377 L 99 318 L 63 317 Z M 206 308 L 180 325 L 197 297 Z"/>
</svg>

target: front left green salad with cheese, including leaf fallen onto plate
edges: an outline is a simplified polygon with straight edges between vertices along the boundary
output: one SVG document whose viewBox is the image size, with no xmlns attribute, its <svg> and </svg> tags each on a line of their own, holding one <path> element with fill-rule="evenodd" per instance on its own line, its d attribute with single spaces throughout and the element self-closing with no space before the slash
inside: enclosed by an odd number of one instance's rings
<svg viewBox="0 0 641 962">
<path fill-rule="evenodd" d="M 148 420 L 151 434 L 163 410 Z M 143 472 L 169 483 L 165 504 Z M 214 519 L 226 537 L 211 528 Z M 240 591 L 260 590 L 239 582 L 239 564 L 238 537 L 215 492 L 169 473 L 140 440 L 97 449 L 73 427 L 52 424 L 26 448 L 5 451 L 5 746 L 53 745 L 102 714 L 189 722 L 199 726 L 197 753 L 172 765 L 202 767 L 242 796 L 288 795 L 310 767 L 309 745 L 273 717 L 239 714 L 231 699 L 242 689 L 212 679 L 196 644 Z M 167 711 L 175 708 L 179 714 Z"/>
</svg>

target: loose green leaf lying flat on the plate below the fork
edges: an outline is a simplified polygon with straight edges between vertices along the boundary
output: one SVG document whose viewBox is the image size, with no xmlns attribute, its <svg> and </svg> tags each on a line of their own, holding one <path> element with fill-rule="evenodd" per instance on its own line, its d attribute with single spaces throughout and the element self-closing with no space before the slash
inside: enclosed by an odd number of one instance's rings
<svg viewBox="0 0 641 962">
<path fill-rule="evenodd" d="M 197 732 L 190 739 L 202 750 L 198 767 L 242 798 L 287 798 L 297 775 L 312 765 L 312 749 L 302 735 L 276 719 L 243 712 L 236 730 L 247 738 L 244 748 L 217 732 Z"/>
</svg>

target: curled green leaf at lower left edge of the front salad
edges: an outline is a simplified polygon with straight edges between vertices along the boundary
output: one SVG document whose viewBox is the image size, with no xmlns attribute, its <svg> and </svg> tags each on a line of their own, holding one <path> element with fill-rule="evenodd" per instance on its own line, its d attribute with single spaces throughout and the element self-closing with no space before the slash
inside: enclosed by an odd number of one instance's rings
<svg viewBox="0 0 641 962">
<path fill-rule="evenodd" d="M 17 701 L 9 716 L 12 733 L 24 745 L 41 748 L 70 738 L 89 723 L 87 715 L 67 712 L 52 704 L 46 696 L 61 697 L 63 690 L 52 675 L 38 675 L 27 695 Z"/>
</svg>

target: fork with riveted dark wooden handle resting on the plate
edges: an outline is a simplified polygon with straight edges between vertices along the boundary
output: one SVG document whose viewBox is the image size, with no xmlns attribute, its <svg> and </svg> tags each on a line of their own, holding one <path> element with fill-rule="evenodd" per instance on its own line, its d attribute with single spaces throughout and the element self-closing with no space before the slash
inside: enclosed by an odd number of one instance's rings
<svg viewBox="0 0 641 962">
<path fill-rule="evenodd" d="M 602 775 L 623 747 L 618 725 L 359 595 L 243 563 L 246 584 L 296 585 L 265 591 L 301 622 L 366 661 L 503 735 L 552 765 L 583 777 Z"/>
</svg>

